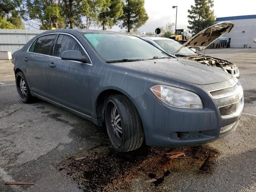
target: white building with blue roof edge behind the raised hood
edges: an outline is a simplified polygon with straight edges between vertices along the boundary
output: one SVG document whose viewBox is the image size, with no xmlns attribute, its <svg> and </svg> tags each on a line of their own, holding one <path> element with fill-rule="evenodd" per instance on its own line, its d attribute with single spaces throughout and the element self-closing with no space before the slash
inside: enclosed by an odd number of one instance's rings
<svg viewBox="0 0 256 192">
<path fill-rule="evenodd" d="M 235 24 L 234 28 L 225 35 L 231 38 L 231 48 L 256 48 L 256 15 L 244 15 L 233 17 L 216 18 L 216 23 L 231 21 Z"/>
</svg>

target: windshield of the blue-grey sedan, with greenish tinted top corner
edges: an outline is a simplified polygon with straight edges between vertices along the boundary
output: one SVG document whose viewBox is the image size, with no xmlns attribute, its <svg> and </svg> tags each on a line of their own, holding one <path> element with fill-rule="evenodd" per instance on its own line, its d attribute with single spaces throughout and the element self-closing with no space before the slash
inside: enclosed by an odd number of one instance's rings
<svg viewBox="0 0 256 192">
<path fill-rule="evenodd" d="M 90 33 L 84 37 L 106 62 L 169 57 L 144 40 L 126 34 Z"/>
</svg>

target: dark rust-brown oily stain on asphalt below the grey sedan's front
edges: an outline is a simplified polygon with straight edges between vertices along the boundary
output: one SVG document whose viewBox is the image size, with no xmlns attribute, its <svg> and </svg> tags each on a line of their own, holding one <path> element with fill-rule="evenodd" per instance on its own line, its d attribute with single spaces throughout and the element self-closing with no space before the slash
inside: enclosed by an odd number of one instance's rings
<svg viewBox="0 0 256 192">
<path fill-rule="evenodd" d="M 184 152 L 185 157 L 168 159 L 166 152 Z M 84 159 L 76 160 L 83 157 Z M 66 157 L 56 168 L 66 174 L 84 191 L 132 191 L 131 182 L 158 187 L 172 172 L 212 174 L 218 151 L 208 145 L 188 148 L 157 148 L 142 146 L 128 153 L 118 153 L 104 139 L 90 150 Z"/>
</svg>

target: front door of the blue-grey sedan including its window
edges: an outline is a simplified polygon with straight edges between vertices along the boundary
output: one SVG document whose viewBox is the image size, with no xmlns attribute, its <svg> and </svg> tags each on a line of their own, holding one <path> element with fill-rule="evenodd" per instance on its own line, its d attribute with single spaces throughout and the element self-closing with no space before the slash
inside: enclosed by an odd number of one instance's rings
<svg viewBox="0 0 256 192">
<path fill-rule="evenodd" d="M 91 116 L 90 77 L 91 63 L 62 60 L 62 52 L 79 50 L 85 55 L 85 49 L 78 40 L 69 34 L 59 34 L 47 69 L 52 100 L 78 112 Z"/>
</svg>

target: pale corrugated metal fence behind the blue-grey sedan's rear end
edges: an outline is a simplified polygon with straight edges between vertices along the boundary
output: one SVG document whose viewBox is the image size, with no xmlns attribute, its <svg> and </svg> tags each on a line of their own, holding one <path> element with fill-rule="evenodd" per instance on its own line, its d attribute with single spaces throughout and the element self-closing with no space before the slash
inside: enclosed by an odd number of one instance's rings
<svg viewBox="0 0 256 192">
<path fill-rule="evenodd" d="M 0 29 L 0 51 L 12 54 L 22 48 L 34 36 L 45 30 Z"/>
</svg>

